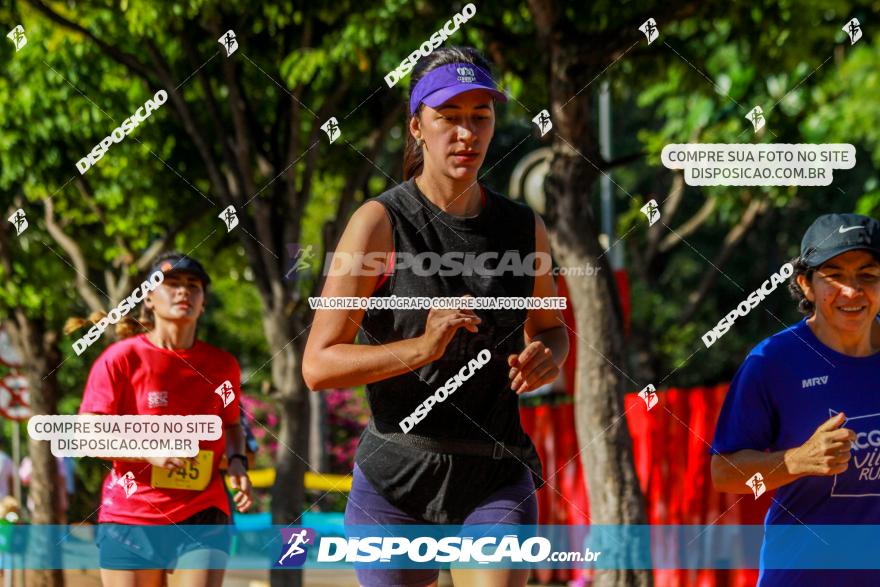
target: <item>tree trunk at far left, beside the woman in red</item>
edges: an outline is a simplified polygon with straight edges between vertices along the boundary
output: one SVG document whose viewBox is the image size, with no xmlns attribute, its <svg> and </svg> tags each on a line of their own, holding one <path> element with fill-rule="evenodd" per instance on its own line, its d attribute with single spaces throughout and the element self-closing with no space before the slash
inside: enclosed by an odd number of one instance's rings
<svg viewBox="0 0 880 587">
<path fill-rule="evenodd" d="M 35 415 L 58 413 L 58 378 L 56 367 L 61 363 L 58 333 L 46 331 L 42 320 L 29 319 L 20 308 L 14 311 L 15 320 L 10 321 L 9 331 L 13 344 L 24 360 L 24 374 L 30 388 L 30 404 Z M 33 464 L 30 496 L 34 502 L 32 524 L 58 525 L 65 523 L 63 512 L 57 507 L 60 492 L 65 491 L 58 476 L 58 463 L 52 455 L 48 442 L 28 440 L 28 452 Z M 46 530 L 46 531 L 42 531 Z M 58 543 L 62 535 L 59 528 L 41 529 L 32 535 L 34 552 L 60 554 Z M 60 556 L 51 561 L 54 569 L 26 571 L 28 587 L 64 587 L 64 574 Z"/>
</svg>

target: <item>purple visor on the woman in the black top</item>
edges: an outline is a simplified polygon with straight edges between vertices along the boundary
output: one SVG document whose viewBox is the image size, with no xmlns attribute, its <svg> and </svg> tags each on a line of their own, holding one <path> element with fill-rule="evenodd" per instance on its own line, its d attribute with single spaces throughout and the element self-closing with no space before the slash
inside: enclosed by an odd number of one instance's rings
<svg viewBox="0 0 880 587">
<path fill-rule="evenodd" d="M 415 115 L 419 104 L 436 108 L 470 90 L 486 90 L 499 102 L 507 102 L 507 96 L 498 90 L 485 69 L 472 63 L 450 63 L 432 69 L 419 80 L 409 99 L 409 113 Z"/>
</svg>

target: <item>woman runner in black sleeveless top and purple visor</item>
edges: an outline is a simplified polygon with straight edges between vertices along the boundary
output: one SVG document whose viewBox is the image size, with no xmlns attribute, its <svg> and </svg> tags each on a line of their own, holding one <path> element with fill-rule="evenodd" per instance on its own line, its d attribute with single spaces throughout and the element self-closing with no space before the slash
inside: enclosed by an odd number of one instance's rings
<svg viewBox="0 0 880 587">
<path fill-rule="evenodd" d="M 537 522 L 541 463 L 520 424 L 518 395 L 559 374 L 568 354 L 559 310 L 517 309 L 511 301 L 501 309 L 416 304 L 557 295 L 541 218 L 477 181 L 495 102 L 506 101 L 489 71 L 470 48 L 440 48 L 419 60 L 406 181 L 354 213 L 333 262 L 347 269 L 329 274 L 322 292 L 382 303 L 315 312 L 306 383 L 314 390 L 366 384 L 373 416 L 358 446 L 346 524 Z M 404 301 L 411 304 L 401 307 Z M 521 515 L 523 504 L 531 514 Z M 394 515 L 377 519 L 381 512 Z M 452 569 L 457 586 L 525 585 L 528 573 Z M 429 585 L 436 577 L 358 571 L 366 587 Z"/>
</svg>

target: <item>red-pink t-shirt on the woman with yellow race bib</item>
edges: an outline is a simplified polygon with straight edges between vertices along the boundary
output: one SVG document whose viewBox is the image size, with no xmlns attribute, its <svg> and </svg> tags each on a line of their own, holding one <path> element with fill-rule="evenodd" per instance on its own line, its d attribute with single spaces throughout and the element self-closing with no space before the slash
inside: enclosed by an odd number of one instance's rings
<svg viewBox="0 0 880 587">
<path fill-rule="evenodd" d="M 141 334 L 107 347 L 92 365 L 80 414 L 217 415 L 224 431 L 219 439 L 199 444 L 199 450 L 214 452 L 211 480 L 202 491 L 153 487 L 149 463 L 113 461 L 113 471 L 104 479 L 99 522 L 176 524 L 209 507 L 229 515 L 219 465 L 225 429 L 240 422 L 240 378 L 235 357 L 200 340 L 191 348 L 170 350 Z M 215 390 L 226 381 L 234 398 L 224 407 Z M 136 490 L 126 497 L 126 488 L 117 481 L 129 471 Z"/>
</svg>

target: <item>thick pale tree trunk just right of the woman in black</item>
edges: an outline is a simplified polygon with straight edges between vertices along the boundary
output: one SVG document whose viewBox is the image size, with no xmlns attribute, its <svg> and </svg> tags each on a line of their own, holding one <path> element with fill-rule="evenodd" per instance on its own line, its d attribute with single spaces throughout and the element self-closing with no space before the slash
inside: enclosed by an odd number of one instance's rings
<svg viewBox="0 0 880 587">
<path fill-rule="evenodd" d="M 579 343 L 575 422 L 580 458 L 587 477 L 591 523 L 645 524 L 623 402 L 624 387 L 636 388 L 637 383 L 627 375 L 621 306 L 590 204 L 599 171 L 585 160 L 600 160 L 590 128 L 591 91 L 584 88 L 601 69 L 584 66 L 578 43 L 571 41 L 554 37 L 551 42 L 550 95 L 557 134 L 545 191 L 551 246 L 559 263 L 600 268 L 595 277 L 567 281 Z M 632 539 L 625 543 L 612 539 L 606 546 L 619 554 L 647 548 Z M 650 570 L 597 571 L 594 583 L 597 587 L 652 584 Z"/>
</svg>

